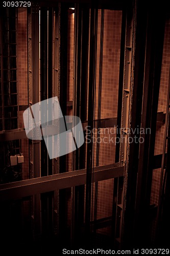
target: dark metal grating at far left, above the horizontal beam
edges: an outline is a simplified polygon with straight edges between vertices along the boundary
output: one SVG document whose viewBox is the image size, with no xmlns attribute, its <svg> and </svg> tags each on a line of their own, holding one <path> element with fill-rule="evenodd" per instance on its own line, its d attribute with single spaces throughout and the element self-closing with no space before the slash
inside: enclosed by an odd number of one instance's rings
<svg viewBox="0 0 170 256">
<path fill-rule="evenodd" d="M 15 8 L 7 8 L 1 15 L 0 131 L 18 127 L 16 18 Z"/>
</svg>

